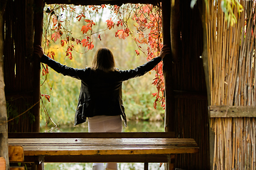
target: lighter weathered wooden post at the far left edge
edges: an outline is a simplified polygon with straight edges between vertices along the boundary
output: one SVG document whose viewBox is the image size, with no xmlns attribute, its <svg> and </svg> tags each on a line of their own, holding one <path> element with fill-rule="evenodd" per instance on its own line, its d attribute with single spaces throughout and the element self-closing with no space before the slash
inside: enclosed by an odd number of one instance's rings
<svg viewBox="0 0 256 170">
<path fill-rule="evenodd" d="M 8 128 L 6 98 L 4 93 L 4 9 L 7 1 L 0 1 L 0 157 L 4 157 L 6 169 L 9 169 Z"/>
</svg>

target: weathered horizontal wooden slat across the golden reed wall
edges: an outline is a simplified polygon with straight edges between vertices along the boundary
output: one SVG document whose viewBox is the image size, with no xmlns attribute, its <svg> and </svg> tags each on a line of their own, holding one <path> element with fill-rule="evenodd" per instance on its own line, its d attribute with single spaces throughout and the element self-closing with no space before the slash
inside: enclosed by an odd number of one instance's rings
<svg viewBox="0 0 256 170">
<path fill-rule="evenodd" d="M 256 106 L 209 106 L 210 118 L 256 117 Z"/>
</svg>

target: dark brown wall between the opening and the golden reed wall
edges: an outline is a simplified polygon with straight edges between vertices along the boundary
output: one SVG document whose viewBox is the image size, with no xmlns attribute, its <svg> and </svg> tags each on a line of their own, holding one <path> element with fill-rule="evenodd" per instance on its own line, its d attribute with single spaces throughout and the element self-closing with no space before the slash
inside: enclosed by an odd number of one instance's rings
<svg viewBox="0 0 256 170">
<path fill-rule="evenodd" d="M 176 156 L 176 168 L 210 169 L 208 140 L 208 103 L 203 70 L 203 28 L 198 8 L 191 1 L 180 3 L 180 58 L 174 62 L 176 137 L 191 137 L 199 146 L 198 154 Z"/>
</svg>

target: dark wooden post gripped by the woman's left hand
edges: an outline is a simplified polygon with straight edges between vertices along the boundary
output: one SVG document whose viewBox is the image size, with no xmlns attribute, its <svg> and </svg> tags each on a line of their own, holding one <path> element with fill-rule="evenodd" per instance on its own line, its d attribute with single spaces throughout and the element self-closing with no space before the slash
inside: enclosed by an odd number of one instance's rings
<svg viewBox="0 0 256 170">
<path fill-rule="evenodd" d="M 43 34 L 43 0 L 35 1 L 35 37 L 34 45 L 41 45 L 42 34 Z M 33 60 L 33 103 L 37 103 L 40 100 L 40 59 L 38 56 L 34 57 Z M 35 115 L 36 121 L 33 124 L 33 132 L 39 132 L 40 128 L 40 103 L 33 107 L 33 114 Z"/>
</svg>

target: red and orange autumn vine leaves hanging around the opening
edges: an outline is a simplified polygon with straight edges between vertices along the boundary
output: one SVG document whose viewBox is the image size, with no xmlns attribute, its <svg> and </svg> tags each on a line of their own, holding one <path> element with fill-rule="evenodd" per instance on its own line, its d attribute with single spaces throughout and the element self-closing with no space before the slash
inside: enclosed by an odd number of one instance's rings
<svg viewBox="0 0 256 170">
<path fill-rule="evenodd" d="M 145 55 L 147 60 L 151 60 L 159 55 L 162 42 L 162 25 L 161 25 L 161 4 L 159 6 L 153 6 L 151 4 L 125 4 L 122 6 L 86 6 L 86 8 L 80 8 L 80 6 L 68 6 L 68 5 L 56 5 L 54 7 L 46 8 L 48 13 L 49 23 L 51 23 L 51 36 L 50 40 L 46 38 L 46 46 L 51 42 L 57 42 L 60 40 L 61 47 L 67 47 L 65 50 L 66 56 L 73 59 L 74 45 L 81 45 L 85 48 L 85 51 L 92 50 L 94 48 L 94 41 L 92 35 L 97 35 L 97 40 L 102 40 L 100 32 L 94 31 L 96 25 L 95 21 L 92 21 L 90 15 L 87 13 L 98 13 L 103 8 L 109 8 L 114 18 L 109 18 L 105 21 L 106 29 L 117 29 L 115 32 L 116 38 L 126 40 L 128 36 L 131 36 L 134 42 L 137 44 L 136 55 Z M 68 10 L 70 16 L 73 19 L 79 21 L 85 21 L 84 26 L 80 31 L 84 35 L 83 37 L 75 38 L 73 33 L 65 27 L 65 21 L 61 13 L 56 13 L 56 10 L 62 11 Z M 127 22 L 132 19 L 136 22 L 134 27 L 136 32 L 131 31 Z M 142 50 L 141 45 L 147 45 L 146 51 Z M 54 60 L 54 52 L 47 53 L 49 57 Z M 44 67 L 43 74 L 48 73 L 48 67 Z M 162 63 L 159 63 L 154 68 L 156 74 L 152 82 L 156 86 L 154 108 L 156 108 L 157 102 L 161 102 L 161 107 L 165 108 L 164 103 L 164 77 L 162 71 Z"/>
</svg>

